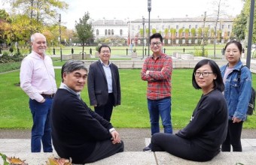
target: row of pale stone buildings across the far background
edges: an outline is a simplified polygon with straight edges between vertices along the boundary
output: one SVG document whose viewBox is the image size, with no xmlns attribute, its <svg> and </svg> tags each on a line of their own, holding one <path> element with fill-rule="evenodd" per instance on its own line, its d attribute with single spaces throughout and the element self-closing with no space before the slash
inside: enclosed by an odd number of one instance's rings
<svg viewBox="0 0 256 165">
<path fill-rule="evenodd" d="M 151 19 L 150 30 L 163 35 L 165 44 L 200 44 L 213 43 L 215 38 L 214 18 L 172 18 Z M 117 36 L 127 40 L 127 45 L 142 44 L 142 19 L 137 20 L 97 20 L 92 23 L 93 34 L 97 38 Z M 204 28 L 203 28 L 204 27 Z M 225 43 L 230 39 L 233 28 L 233 17 L 220 18 L 217 23 L 217 43 Z M 145 19 L 145 41 L 148 38 L 148 19 Z M 131 38 L 130 38 L 131 36 Z"/>
</svg>

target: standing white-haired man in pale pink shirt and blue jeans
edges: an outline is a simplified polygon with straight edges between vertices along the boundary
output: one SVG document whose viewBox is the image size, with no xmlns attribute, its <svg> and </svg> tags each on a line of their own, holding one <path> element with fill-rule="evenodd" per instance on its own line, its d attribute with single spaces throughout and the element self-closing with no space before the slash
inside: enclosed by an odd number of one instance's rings
<svg viewBox="0 0 256 165">
<path fill-rule="evenodd" d="M 51 58 L 45 55 L 46 37 L 41 33 L 31 36 L 32 52 L 23 59 L 20 67 L 20 87 L 29 96 L 33 126 L 31 151 L 52 152 L 50 136 L 50 108 L 56 92 L 55 73 Z"/>
</svg>

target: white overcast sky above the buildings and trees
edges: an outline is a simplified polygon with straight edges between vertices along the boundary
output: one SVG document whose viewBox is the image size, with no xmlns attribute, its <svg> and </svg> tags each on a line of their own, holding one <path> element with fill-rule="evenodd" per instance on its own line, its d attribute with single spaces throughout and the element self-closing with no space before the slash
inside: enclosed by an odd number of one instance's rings
<svg viewBox="0 0 256 165">
<path fill-rule="evenodd" d="M 62 0 L 69 4 L 69 9 L 62 11 L 62 24 L 68 28 L 75 28 L 75 21 L 90 13 L 93 20 L 131 20 L 148 19 L 148 0 Z M 205 11 L 209 16 L 213 10 L 217 10 L 213 1 L 219 0 L 151 0 L 151 19 L 199 17 Z M 224 11 L 236 16 L 242 10 L 242 0 L 221 0 L 225 3 Z M 2 0 L 0 0 L 0 8 Z"/>
</svg>

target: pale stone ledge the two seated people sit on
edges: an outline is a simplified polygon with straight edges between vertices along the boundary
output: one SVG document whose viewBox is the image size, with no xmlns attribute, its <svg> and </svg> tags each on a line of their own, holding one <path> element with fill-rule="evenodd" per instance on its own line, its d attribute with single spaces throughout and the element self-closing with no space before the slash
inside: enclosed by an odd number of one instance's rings
<svg viewBox="0 0 256 165">
<path fill-rule="evenodd" d="M 197 164 L 255 164 L 256 162 L 256 152 L 221 152 L 212 160 L 207 162 L 195 162 L 190 160 L 184 160 L 179 157 L 175 157 L 172 154 L 166 152 L 151 152 L 151 151 L 124 151 L 121 153 L 114 154 L 111 157 L 96 161 L 96 165 L 105 164 L 138 164 L 138 165 L 148 165 L 148 164 L 184 164 L 184 165 L 197 165 Z M 56 153 L 24 153 L 24 152 L 8 152 L 8 157 L 20 157 L 21 160 L 26 160 L 25 162 L 29 165 L 46 164 L 48 157 L 58 157 Z M 3 164 L 2 159 L 0 159 L 0 164 Z"/>
</svg>

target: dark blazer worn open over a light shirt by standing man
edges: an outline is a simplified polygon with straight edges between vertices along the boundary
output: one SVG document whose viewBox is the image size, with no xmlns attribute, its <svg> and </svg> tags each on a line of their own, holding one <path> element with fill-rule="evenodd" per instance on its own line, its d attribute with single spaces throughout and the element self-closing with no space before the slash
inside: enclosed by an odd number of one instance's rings
<svg viewBox="0 0 256 165">
<path fill-rule="evenodd" d="M 114 105 L 120 105 L 120 79 L 117 65 L 111 63 L 112 88 L 114 94 Z M 104 106 L 108 101 L 108 82 L 105 77 L 105 72 L 100 60 L 90 65 L 88 74 L 88 94 L 90 98 L 90 105 Z"/>
</svg>

